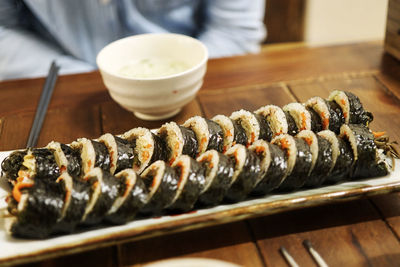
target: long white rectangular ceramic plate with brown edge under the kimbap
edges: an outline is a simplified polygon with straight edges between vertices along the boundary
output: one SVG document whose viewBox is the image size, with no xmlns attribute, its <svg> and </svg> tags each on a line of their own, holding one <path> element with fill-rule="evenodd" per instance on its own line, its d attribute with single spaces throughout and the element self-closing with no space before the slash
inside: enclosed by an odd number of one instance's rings
<svg viewBox="0 0 400 267">
<path fill-rule="evenodd" d="M 8 154 L 9 152 L 0 152 L 0 162 Z M 396 160 L 395 166 L 399 166 L 399 164 L 400 160 Z M 8 194 L 9 188 L 4 183 L 4 179 L 0 180 L 3 181 L 2 184 L 0 183 L 0 264 L 12 264 L 287 210 L 355 199 L 366 195 L 400 191 L 400 168 L 395 168 L 391 174 L 385 177 L 346 182 L 290 194 L 273 194 L 180 215 L 135 220 L 121 226 L 102 225 L 98 228 L 46 240 L 16 239 L 6 232 L 4 224 L 8 218 L 4 217 L 6 212 L 5 196 Z"/>
</svg>

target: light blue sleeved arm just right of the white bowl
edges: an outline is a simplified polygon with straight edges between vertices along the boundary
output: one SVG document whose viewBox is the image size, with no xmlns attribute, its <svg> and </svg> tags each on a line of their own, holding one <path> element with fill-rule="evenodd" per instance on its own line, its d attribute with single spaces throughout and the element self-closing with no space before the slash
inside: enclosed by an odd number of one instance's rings
<svg viewBox="0 0 400 267">
<path fill-rule="evenodd" d="M 266 37 L 265 0 L 207 0 L 203 32 L 197 37 L 210 57 L 255 53 Z"/>
</svg>

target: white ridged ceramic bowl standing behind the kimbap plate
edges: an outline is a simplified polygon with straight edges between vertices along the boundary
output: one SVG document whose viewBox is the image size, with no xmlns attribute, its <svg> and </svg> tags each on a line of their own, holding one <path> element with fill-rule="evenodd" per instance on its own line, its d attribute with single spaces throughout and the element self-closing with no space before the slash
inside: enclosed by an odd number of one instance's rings
<svg viewBox="0 0 400 267">
<path fill-rule="evenodd" d="M 137 62 L 148 60 L 153 63 L 169 62 L 168 66 L 173 65 L 171 62 L 178 62 L 185 65 L 185 69 L 167 76 L 143 75 L 141 78 L 128 77 L 121 72 L 131 64 L 131 70 L 140 73 L 141 67 Z M 120 39 L 104 47 L 97 55 L 97 65 L 111 97 L 145 120 L 172 117 L 189 103 L 203 84 L 207 60 L 207 48 L 200 41 L 170 33 Z M 143 68 L 148 69 L 148 65 Z"/>
</svg>

